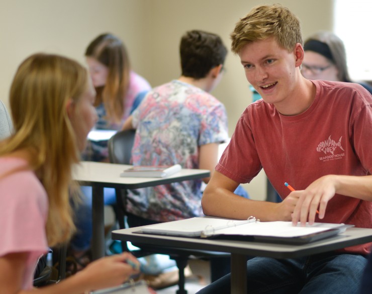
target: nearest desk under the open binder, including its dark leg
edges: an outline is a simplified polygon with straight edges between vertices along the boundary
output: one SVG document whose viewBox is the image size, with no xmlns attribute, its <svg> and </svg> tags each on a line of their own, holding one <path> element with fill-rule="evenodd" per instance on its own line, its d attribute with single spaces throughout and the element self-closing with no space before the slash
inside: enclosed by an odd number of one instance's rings
<svg viewBox="0 0 372 294">
<path fill-rule="evenodd" d="M 231 253 L 231 293 L 247 293 L 247 256 L 297 258 L 348 246 L 372 242 L 372 229 L 348 228 L 338 236 L 306 245 L 284 245 L 263 242 L 208 240 L 134 233 L 141 227 L 112 232 L 114 240 L 138 242 L 174 248 L 211 250 Z"/>
</svg>

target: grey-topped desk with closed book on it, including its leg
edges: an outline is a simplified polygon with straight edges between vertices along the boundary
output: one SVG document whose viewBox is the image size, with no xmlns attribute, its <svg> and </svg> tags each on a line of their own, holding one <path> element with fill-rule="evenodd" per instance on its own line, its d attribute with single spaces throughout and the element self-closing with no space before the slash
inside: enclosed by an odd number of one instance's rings
<svg viewBox="0 0 372 294">
<path fill-rule="evenodd" d="M 105 255 L 104 187 L 137 189 L 184 180 L 204 178 L 210 175 L 205 169 L 182 169 L 166 178 L 120 177 L 130 165 L 83 161 L 73 171 L 72 178 L 81 185 L 92 187 L 92 258 Z"/>
</svg>

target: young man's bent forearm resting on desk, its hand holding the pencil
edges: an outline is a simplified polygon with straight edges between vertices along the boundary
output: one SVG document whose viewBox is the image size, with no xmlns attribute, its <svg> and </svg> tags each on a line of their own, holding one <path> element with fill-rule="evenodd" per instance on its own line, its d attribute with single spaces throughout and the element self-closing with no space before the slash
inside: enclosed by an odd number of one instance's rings
<svg viewBox="0 0 372 294">
<path fill-rule="evenodd" d="M 289 195 L 281 203 L 254 201 L 234 194 L 238 184 L 222 173 L 214 171 L 203 193 L 204 214 L 241 220 L 254 216 L 263 222 L 292 220 L 291 215 L 298 201 L 296 195 Z"/>
</svg>

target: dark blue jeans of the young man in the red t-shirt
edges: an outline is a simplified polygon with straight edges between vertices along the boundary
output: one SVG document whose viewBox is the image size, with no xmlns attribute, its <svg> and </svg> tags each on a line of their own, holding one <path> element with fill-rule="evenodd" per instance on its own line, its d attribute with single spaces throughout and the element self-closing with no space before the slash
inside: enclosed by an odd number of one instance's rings
<svg viewBox="0 0 372 294">
<path fill-rule="evenodd" d="M 255 257 L 247 262 L 249 294 L 357 294 L 367 259 L 357 254 L 328 252 L 298 259 Z M 230 274 L 197 294 L 230 293 Z"/>
</svg>

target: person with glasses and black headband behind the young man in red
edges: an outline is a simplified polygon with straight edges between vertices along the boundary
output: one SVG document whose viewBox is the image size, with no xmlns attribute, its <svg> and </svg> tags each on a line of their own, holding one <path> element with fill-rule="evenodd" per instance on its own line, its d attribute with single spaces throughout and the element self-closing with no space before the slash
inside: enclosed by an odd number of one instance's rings
<svg viewBox="0 0 372 294">
<path fill-rule="evenodd" d="M 301 72 L 308 79 L 352 82 L 346 64 L 342 40 L 331 32 L 318 32 L 304 44 L 305 56 Z M 359 82 L 372 93 L 372 87 Z"/>
</svg>

